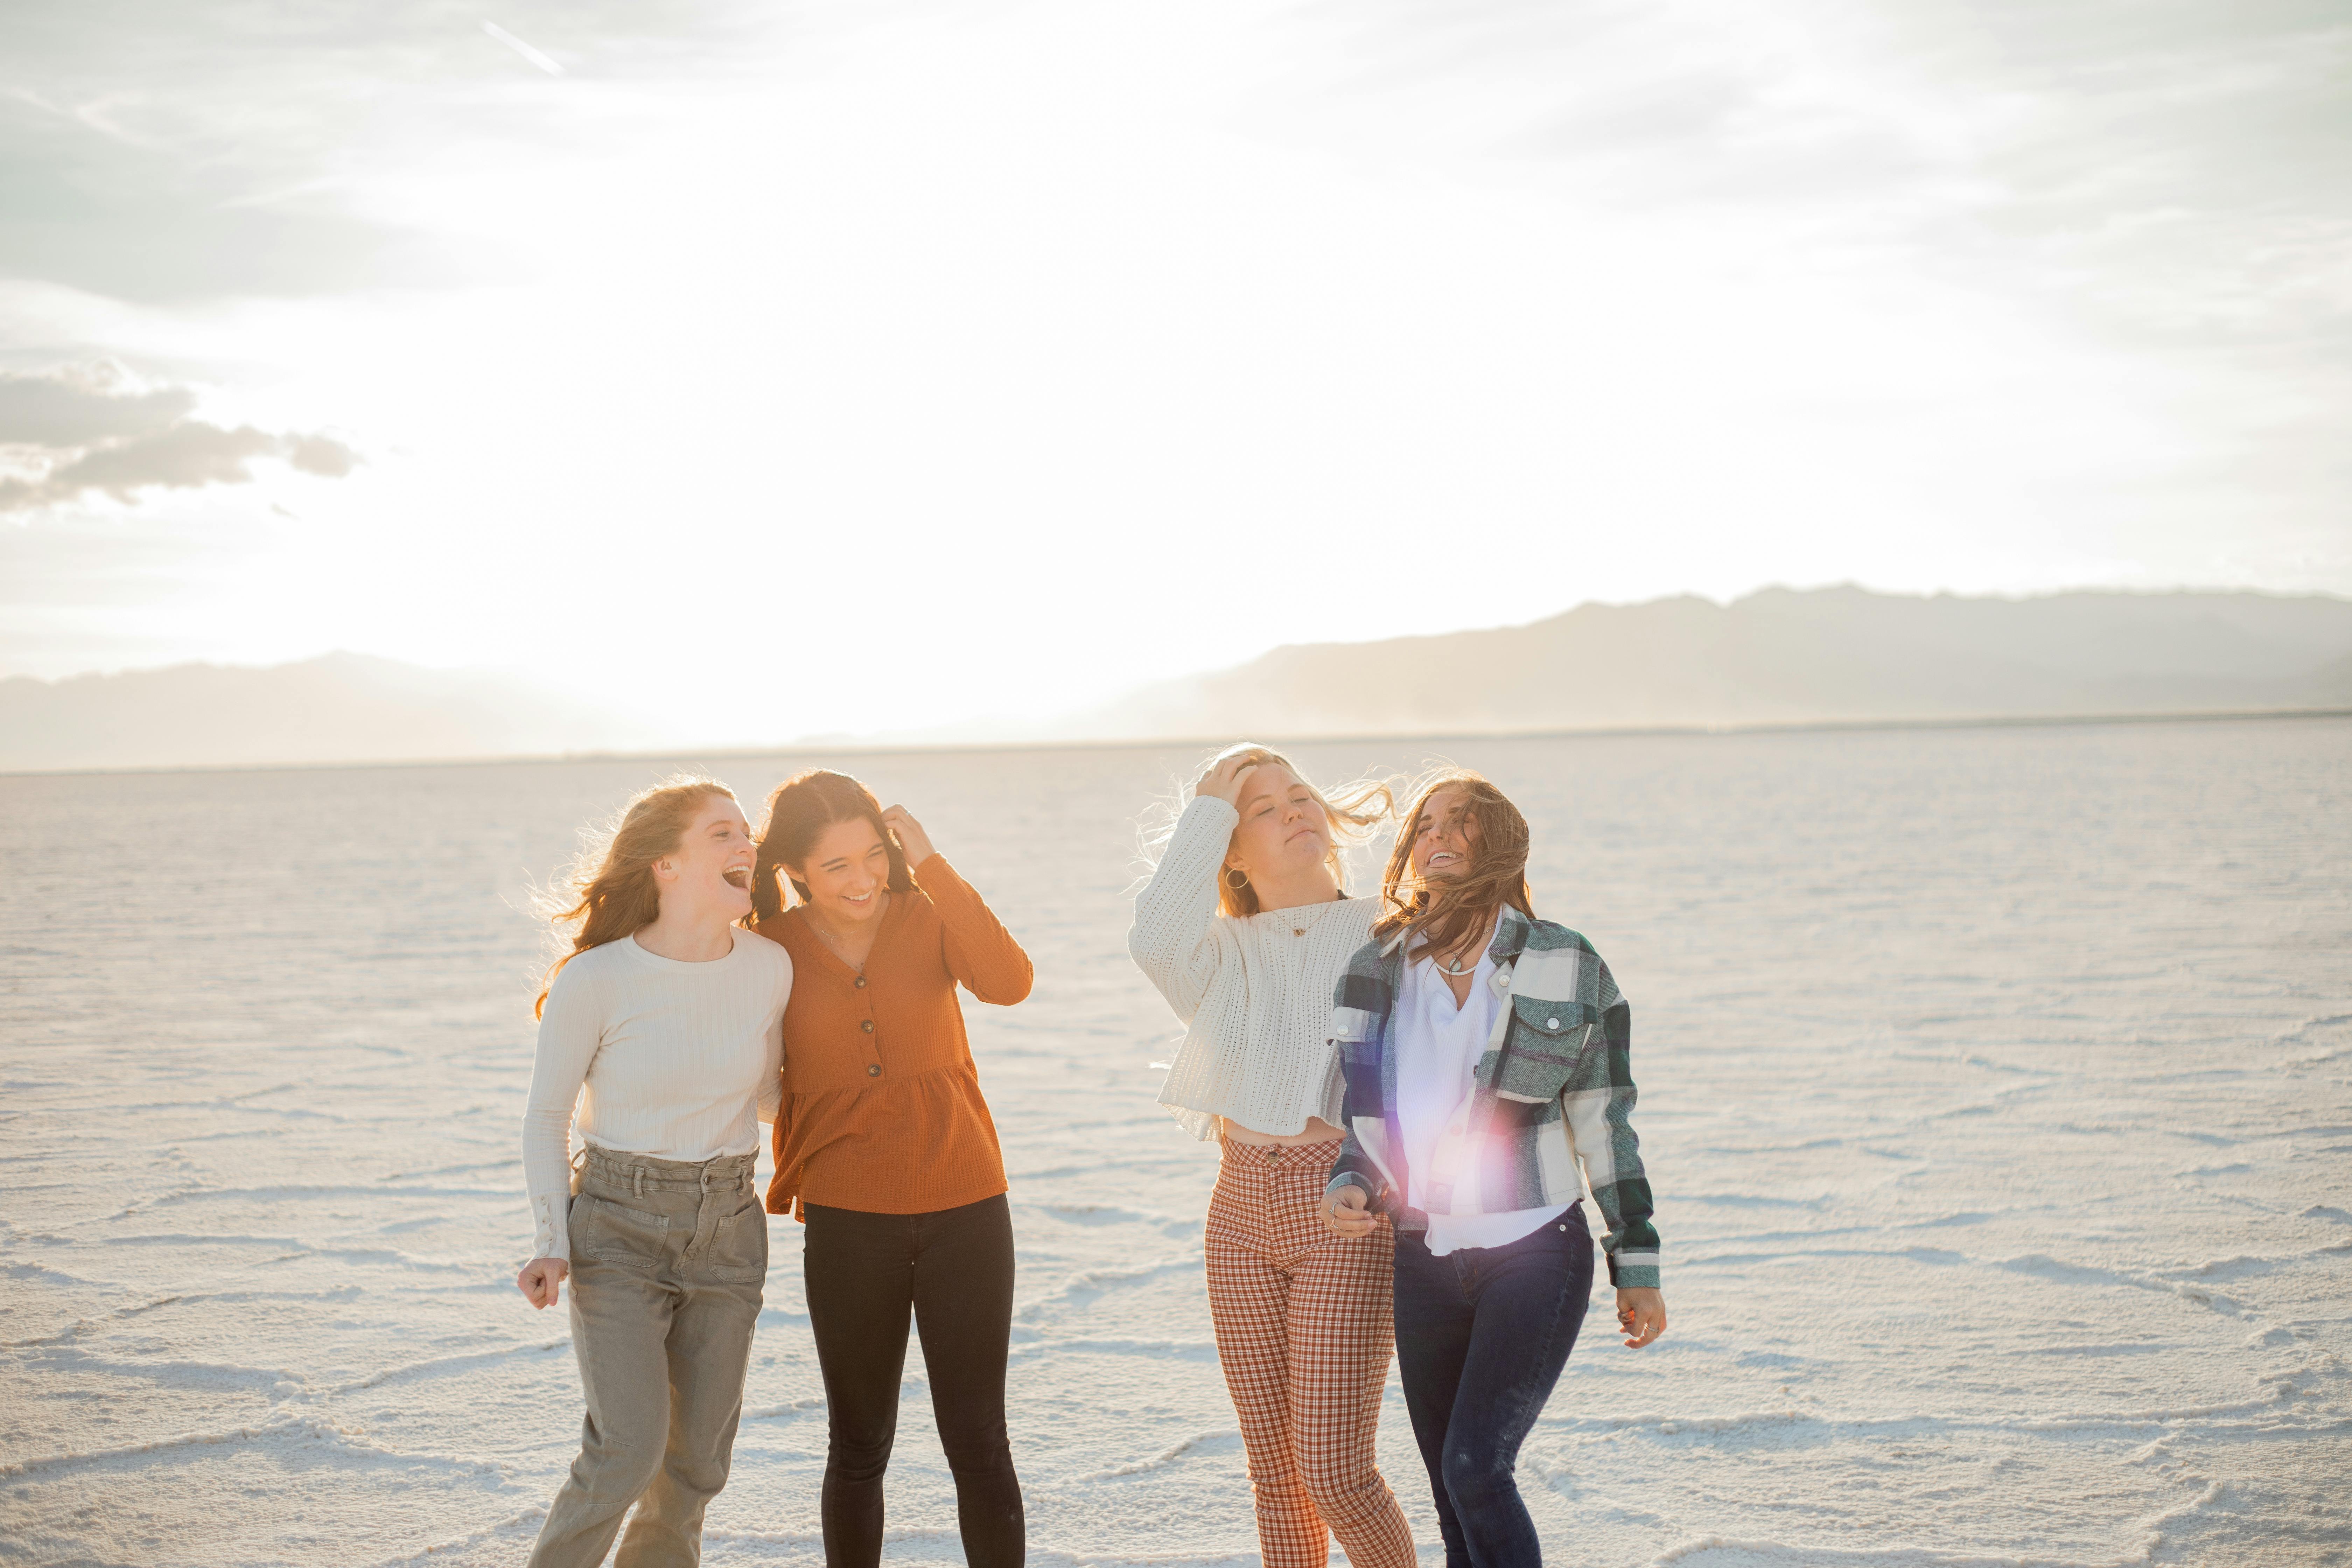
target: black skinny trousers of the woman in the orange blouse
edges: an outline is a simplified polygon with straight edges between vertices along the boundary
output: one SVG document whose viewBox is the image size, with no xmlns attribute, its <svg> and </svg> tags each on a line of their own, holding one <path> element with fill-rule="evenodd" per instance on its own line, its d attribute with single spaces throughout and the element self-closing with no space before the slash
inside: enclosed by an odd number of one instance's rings
<svg viewBox="0 0 2352 1568">
<path fill-rule="evenodd" d="M 882 1561 L 882 1472 L 898 1436 L 906 1324 L 931 1371 L 931 1418 L 955 1472 L 969 1568 L 1028 1554 L 1021 1479 L 1004 1441 L 1004 1354 L 1014 1328 L 1014 1220 L 1004 1197 L 936 1213 L 807 1206 L 802 1272 L 826 1375 L 828 1568 Z"/>
</svg>

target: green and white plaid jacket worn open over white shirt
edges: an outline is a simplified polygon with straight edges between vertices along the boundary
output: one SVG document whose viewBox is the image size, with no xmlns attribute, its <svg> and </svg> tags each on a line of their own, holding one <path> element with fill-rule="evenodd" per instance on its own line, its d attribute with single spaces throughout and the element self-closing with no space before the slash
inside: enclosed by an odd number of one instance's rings
<svg viewBox="0 0 2352 1568">
<path fill-rule="evenodd" d="M 1583 1197 L 1583 1164 L 1606 1234 L 1609 1279 L 1658 1284 L 1658 1232 L 1649 1178 L 1632 1133 L 1632 1009 L 1592 943 L 1505 907 L 1496 922 L 1496 1013 L 1472 1074 L 1470 1110 L 1449 1124 L 1423 1192 L 1435 1213 L 1550 1208 Z M 1348 959 L 1331 1011 L 1331 1046 L 1345 1079 L 1348 1143 L 1327 1192 L 1362 1187 L 1399 1229 L 1428 1229 L 1406 1208 L 1404 1133 L 1397 1124 L 1397 1058 L 1388 1023 L 1404 980 L 1404 938 L 1367 943 Z"/>
</svg>

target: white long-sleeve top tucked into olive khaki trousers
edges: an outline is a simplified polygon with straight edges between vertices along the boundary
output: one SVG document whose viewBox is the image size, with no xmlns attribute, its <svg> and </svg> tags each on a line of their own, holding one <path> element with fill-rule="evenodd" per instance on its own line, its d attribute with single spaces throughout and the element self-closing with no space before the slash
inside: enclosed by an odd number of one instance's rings
<svg viewBox="0 0 2352 1568">
<path fill-rule="evenodd" d="M 750 931 L 684 964 L 623 936 L 555 976 L 539 1018 L 522 1180 L 534 1258 L 569 1258 L 572 1121 L 600 1150 L 703 1161 L 753 1154 L 783 1098 L 783 1004 L 793 957 Z"/>
</svg>

